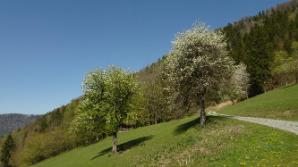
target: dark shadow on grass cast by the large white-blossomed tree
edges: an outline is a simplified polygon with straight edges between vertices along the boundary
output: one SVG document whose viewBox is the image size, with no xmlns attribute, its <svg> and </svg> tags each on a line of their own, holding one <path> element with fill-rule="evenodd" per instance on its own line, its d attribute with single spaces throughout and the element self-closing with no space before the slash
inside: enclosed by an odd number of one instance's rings
<svg viewBox="0 0 298 167">
<path fill-rule="evenodd" d="M 206 120 L 206 125 L 208 126 L 208 124 L 216 122 L 218 120 L 223 120 L 226 119 L 224 116 L 207 116 L 207 120 Z M 186 132 L 188 129 L 193 128 L 195 126 L 200 126 L 200 118 L 196 118 L 194 120 L 191 120 L 189 122 L 186 122 L 184 124 L 181 124 L 179 126 L 177 126 L 177 128 L 174 130 L 174 134 L 175 135 L 180 135 L 184 132 Z"/>
</svg>

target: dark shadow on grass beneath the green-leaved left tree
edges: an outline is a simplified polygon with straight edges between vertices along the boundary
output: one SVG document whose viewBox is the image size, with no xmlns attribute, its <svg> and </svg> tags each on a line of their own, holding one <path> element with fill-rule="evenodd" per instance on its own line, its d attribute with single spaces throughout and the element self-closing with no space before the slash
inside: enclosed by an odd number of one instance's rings
<svg viewBox="0 0 298 167">
<path fill-rule="evenodd" d="M 133 139 L 133 140 L 130 140 L 128 142 L 125 142 L 125 143 L 122 143 L 122 144 L 118 144 L 117 145 L 117 151 L 118 153 L 120 152 L 123 152 L 123 151 L 126 151 L 132 147 L 135 147 L 135 146 L 138 146 L 138 145 L 141 145 L 142 143 L 144 143 L 145 141 L 147 140 L 150 140 L 152 139 L 153 136 L 144 136 L 144 137 L 140 137 L 140 138 L 136 138 L 136 139 Z M 97 155 L 95 155 L 94 157 L 91 158 L 91 160 L 94 160 L 100 156 L 103 156 L 107 153 L 111 153 L 112 152 L 112 147 L 109 147 L 107 149 L 104 149 L 102 151 L 100 151 L 99 153 L 97 153 Z"/>
</svg>

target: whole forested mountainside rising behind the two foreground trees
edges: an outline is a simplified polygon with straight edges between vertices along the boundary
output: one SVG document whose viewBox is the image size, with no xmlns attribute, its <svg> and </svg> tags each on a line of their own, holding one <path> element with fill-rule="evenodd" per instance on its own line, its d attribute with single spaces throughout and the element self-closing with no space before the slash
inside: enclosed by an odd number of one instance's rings
<svg viewBox="0 0 298 167">
<path fill-rule="evenodd" d="M 290 1 L 275 8 L 262 11 L 223 27 L 227 37 L 230 56 L 236 63 L 244 63 L 250 74 L 249 96 L 297 82 L 298 56 L 298 1 Z M 187 112 L 175 109 L 168 103 L 164 90 L 167 80 L 162 74 L 167 55 L 134 75 L 141 83 L 136 105 L 121 130 L 178 119 L 197 111 L 197 104 L 190 105 Z M 212 105 L 230 99 L 218 92 L 208 92 L 206 104 Z M 15 147 L 11 164 L 30 165 L 70 150 L 79 145 L 94 143 L 105 132 L 91 134 L 88 139 L 75 136 L 69 127 L 79 110 L 81 98 L 49 112 L 34 123 L 14 131 Z M 0 141 L 0 145 L 3 141 Z"/>
</svg>

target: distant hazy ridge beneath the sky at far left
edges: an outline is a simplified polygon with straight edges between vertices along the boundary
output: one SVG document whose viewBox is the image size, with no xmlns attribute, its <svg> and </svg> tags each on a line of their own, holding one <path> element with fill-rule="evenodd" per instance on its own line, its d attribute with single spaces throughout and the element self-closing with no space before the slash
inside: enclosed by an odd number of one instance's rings
<svg viewBox="0 0 298 167">
<path fill-rule="evenodd" d="M 39 116 L 23 114 L 0 114 L 0 137 L 33 123 Z"/>
</svg>

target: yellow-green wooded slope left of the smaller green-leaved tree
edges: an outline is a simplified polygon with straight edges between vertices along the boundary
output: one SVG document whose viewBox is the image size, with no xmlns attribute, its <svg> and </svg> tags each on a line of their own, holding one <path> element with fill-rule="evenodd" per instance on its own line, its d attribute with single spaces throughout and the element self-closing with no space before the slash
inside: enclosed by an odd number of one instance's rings
<svg viewBox="0 0 298 167">
<path fill-rule="evenodd" d="M 11 165 L 33 164 L 77 147 L 78 139 L 67 132 L 78 105 L 79 99 L 72 100 L 13 132 L 15 148 L 11 154 Z"/>
</svg>

